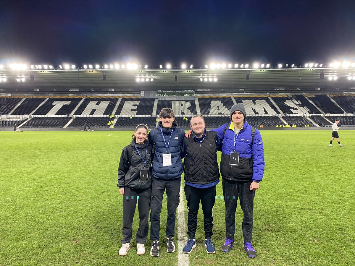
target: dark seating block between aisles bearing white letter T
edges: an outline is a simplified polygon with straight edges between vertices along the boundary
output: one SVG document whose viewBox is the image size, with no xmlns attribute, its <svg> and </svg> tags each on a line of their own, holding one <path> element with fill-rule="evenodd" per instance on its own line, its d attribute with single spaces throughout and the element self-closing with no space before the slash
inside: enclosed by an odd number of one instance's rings
<svg viewBox="0 0 355 266">
<path fill-rule="evenodd" d="M 67 115 L 79 104 L 82 98 L 49 98 L 33 115 Z"/>
</svg>

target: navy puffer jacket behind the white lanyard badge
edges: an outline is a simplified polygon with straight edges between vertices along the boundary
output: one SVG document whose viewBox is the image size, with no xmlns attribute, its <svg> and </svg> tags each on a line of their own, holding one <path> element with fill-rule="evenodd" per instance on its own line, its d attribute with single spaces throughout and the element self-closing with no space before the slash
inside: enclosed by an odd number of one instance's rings
<svg viewBox="0 0 355 266">
<path fill-rule="evenodd" d="M 172 180 L 181 177 L 184 167 L 180 157 L 180 144 L 184 140 L 185 131 L 177 126 L 178 123 L 173 121 L 173 126 L 171 126 L 171 128 L 164 128 L 162 126 L 162 122 L 159 121 L 158 126 L 149 132 L 148 141 L 151 145 L 153 145 L 154 137 L 156 137 L 154 159 L 152 165 L 153 179 L 157 178 L 163 180 Z M 171 131 L 173 130 L 168 149 L 168 153 L 171 153 L 171 166 L 163 166 L 163 153 L 166 153 L 166 146 L 162 137 L 162 132 L 160 131 L 160 127 L 162 128 L 166 144 L 168 144 Z"/>
</svg>

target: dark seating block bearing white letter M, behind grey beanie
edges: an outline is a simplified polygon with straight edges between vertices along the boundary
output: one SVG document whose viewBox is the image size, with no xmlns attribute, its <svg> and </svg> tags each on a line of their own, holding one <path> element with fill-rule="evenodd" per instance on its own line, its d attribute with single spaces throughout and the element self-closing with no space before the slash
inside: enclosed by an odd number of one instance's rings
<svg viewBox="0 0 355 266">
<path fill-rule="evenodd" d="M 244 104 L 247 115 L 280 114 L 279 110 L 273 105 L 269 97 L 266 96 L 234 97 L 234 99 L 237 104 Z"/>
</svg>

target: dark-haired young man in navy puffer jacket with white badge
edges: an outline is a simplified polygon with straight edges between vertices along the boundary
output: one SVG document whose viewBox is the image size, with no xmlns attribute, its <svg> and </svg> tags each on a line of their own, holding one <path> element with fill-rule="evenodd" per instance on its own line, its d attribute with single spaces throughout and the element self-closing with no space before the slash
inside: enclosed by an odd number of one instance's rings
<svg viewBox="0 0 355 266">
<path fill-rule="evenodd" d="M 159 114 L 158 126 L 148 135 L 149 144 L 155 143 L 152 165 L 151 194 L 151 256 L 159 256 L 160 211 L 166 189 L 166 205 L 168 218 L 166 221 L 166 251 L 175 251 L 175 218 L 176 208 L 180 203 L 181 174 L 184 169 L 180 157 L 180 145 L 185 131 L 175 122 L 174 111 L 163 108 Z"/>
</svg>

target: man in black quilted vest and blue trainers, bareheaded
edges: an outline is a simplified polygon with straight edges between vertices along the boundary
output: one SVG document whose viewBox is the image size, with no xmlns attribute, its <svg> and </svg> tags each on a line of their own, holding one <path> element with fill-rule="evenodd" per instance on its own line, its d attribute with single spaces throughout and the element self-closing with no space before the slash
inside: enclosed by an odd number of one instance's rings
<svg viewBox="0 0 355 266">
<path fill-rule="evenodd" d="M 193 138 L 185 138 L 183 150 L 185 156 L 185 196 L 189 214 L 187 227 L 189 240 L 183 252 L 191 253 L 196 247 L 195 233 L 197 228 L 197 212 L 200 201 L 203 211 L 203 225 L 205 231 L 204 246 L 207 253 L 214 253 L 212 243 L 213 216 L 212 209 L 216 196 L 216 185 L 219 183 L 217 162 L 217 133 L 206 131 L 206 123 L 201 116 L 194 116 L 190 120 Z"/>
</svg>

